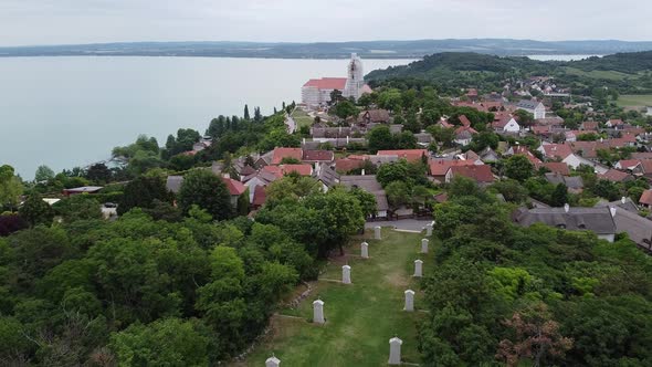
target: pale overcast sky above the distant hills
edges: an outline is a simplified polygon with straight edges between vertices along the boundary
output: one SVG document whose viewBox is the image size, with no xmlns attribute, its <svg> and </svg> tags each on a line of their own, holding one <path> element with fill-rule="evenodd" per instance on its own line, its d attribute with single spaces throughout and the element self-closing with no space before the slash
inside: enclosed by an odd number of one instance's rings
<svg viewBox="0 0 652 367">
<path fill-rule="evenodd" d="M 0 45 L 652 40 L 650 0 L 0 0 Z"/>
</svg>

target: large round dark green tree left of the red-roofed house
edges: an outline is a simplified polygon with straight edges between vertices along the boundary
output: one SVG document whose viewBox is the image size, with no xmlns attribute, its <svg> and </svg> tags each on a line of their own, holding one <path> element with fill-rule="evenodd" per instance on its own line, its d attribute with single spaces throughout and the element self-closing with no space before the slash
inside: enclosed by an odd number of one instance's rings
<svg viewBox="0 0 652 367">
<path fill-rule="evenodd" d="M 194 205 L 206 209 L 214 220 L 224 220 L 233 216 L 231 195 L 227 185 L 209 170 L 197 169 L 186 175 L 178 200 L 185 213 Z"/>
</svg>

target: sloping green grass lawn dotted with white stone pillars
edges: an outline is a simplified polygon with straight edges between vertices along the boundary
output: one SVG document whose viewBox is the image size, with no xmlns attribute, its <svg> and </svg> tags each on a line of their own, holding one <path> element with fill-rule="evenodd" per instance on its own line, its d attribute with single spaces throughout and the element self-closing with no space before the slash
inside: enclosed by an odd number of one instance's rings
<svg viewBox="0 0 652 367">
<path fill-rule="evenodd" d="M 372 231 L 367 231 L 367 238 Z M 425 314 L 419 281 L 412 279 L 419 259 L 421 234 L 382 230 L 383 240 L 367 239 L 370 259 L 362 260 L 361 238 L 347 247 L 350 256 L 333 259 L 314 290 L 297 310 L 281 310 L 272 318 L 272 332 L 246 361 L 233 366 L 264 366 L 272 353 L 282 366 L 385 366 L 389 339 L 403 340 L 402 360 L 420 363 L 416 322 Z M 422 258 L 425 261 L 425 258 Z M 341 265 L 351 266 L 353 284 L 344 285 Z M 428 261 L 423 264 L 428 269 Z M 329 281 L 334 280 L 334 281 Z M 403 292 L 417 292 L 417 312 L 407 313 Z M 311 324 L 313 301 L 324 301 L 326 324 Z"/>
</svg>

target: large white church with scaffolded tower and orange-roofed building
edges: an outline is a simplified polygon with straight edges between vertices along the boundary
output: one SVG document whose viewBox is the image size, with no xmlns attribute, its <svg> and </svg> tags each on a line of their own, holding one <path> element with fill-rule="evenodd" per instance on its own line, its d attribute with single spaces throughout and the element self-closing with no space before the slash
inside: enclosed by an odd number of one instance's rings
<svg viewBox="0 0 652 367">
<path fill-rule="evenodd" d="M 302 103 L 309 108 L 318 108 L 330 102 L 330 93 L 340 91 L 345 98 L 358 98 L 365 93 L 371 93 L 371 88 L 365 84 L 362 60 L 353 53 L 347 67 L 347 77 L 312 78 L 301 88 Z"/>
</svg>

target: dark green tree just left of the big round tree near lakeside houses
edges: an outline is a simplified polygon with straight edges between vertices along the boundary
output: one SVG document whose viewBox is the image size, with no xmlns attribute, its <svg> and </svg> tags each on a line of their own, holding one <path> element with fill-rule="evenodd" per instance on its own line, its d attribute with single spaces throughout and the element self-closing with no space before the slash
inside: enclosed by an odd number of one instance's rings
<svg viewBox="0 0 652 367">
<path fill-rule="evenodd" d="M 154 200 L 171 201 L 162 177 L 140 176 L 125 186 L 117 212 L 124 214 L 133 208 L 151 209 Z"/>
</svg>

